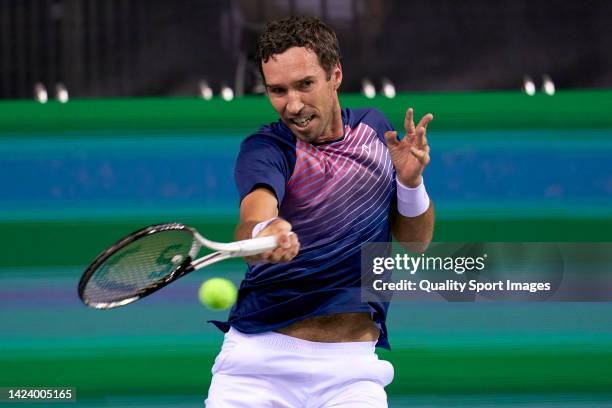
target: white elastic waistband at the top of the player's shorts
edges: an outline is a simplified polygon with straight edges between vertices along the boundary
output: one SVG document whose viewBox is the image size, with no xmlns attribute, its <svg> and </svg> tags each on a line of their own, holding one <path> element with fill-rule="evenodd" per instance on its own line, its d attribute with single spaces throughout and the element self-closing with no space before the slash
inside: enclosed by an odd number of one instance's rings
<svg viewBox="0 0 612 408">
<path fill-rule="evenodd" d="M 297 353 L 309 354 L 373 354 L 376 350 L 376 341 L 351 341 L 342 343 L 322 343 L 308 341 L 287 336 L 277 332 L 256 334 L 242 333 L 231 327 L 226 336 L 238 341 L 247 341 L 258 346 L 273 348 Z"/>
</svg>

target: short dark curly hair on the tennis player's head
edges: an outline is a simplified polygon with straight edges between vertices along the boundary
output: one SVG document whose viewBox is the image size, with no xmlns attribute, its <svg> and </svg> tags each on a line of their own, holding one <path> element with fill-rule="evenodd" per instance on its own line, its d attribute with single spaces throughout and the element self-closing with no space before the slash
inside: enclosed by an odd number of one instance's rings
<svg viewBox="0 0 612 408">
<path fill-rule="evenodd" d="M 271 56 L 282 54 L 291 47 L 305 47 L 317 54 L 328 80 L 340 62 L 340 45 L 331 28 L 318 18 L 287 17 L 267 23 L 259 36 L 255 57 L 264 80 L 262 64 L 268 62 Z"/>
</svg>

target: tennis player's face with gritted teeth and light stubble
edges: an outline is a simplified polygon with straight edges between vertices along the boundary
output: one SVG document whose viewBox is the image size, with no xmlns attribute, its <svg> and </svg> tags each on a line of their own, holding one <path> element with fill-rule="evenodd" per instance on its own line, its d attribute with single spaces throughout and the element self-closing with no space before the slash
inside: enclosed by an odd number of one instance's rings
<svg viewBox="0 0 612 408">
<path fill-rule="evenodd" d="M 323 142 L 342 136 L 337 90 L 342 69 L 331 78 L 307 48 L 292 47 L 262 64 L 268 97 L 281 120 L 305 142 Z M 338 121 L 340 126 L 338 129 Z"/>
</svg>

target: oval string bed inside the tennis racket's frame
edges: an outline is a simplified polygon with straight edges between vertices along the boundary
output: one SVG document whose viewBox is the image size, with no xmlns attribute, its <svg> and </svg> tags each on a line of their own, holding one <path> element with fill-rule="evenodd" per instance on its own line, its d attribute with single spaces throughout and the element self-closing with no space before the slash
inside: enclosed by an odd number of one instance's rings
<svg viewBox="0 0 612 408">
<path fill-rule="evenodd" d="M 84 290 L 90 303 L 131 298 L 169 276 L 190 255 L 191 232 L 167 230 L 146 235 L 106 258 Z"/>
</svg>

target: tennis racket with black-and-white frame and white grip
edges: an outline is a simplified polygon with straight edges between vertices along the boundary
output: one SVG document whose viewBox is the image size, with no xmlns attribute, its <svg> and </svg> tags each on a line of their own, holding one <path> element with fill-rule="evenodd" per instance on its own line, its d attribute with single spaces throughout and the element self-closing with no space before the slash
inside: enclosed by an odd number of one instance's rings
<svg viewBox="0 0 612 408">
<path fill-rule="evenodd" d="M 195 270 L 228 258 L 277 246 L 275 237 L 213 242 L 183 224 L 158 224 L 117 241 L 85 269 L 79 297 L 87 306 L 111 309 L 135 302 Z M 197 258 L 202 247 L 216 252 Z"/>
</svg>

